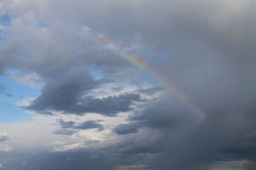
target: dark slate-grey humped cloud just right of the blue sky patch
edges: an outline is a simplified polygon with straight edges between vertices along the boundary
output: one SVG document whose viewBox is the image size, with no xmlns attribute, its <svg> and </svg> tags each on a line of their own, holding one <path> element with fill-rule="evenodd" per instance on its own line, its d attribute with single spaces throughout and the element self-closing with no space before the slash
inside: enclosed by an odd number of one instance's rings
<svg viewBox="0 0 256 170">
<path fill-rule="evenodd" d="M 26 109 L 46 112 L 46 109 L 61 110 L 76 107 L 82 92 L 99 84 L 88 71 L 70 69 L 59 75 L 57 80 L 50 80 L 44 86 L 42 94 Z M 75 110 L 75 109 L 74 109 Z"/>
</svg>

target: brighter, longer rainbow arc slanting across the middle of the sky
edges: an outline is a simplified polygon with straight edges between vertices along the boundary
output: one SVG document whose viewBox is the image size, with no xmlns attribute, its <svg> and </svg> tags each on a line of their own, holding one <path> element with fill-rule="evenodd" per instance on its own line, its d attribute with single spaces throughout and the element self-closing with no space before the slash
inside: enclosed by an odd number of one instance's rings
<svg viewBox="0 0 256 170">
<path fill-rule="evenodd" d="M 180 101 L 182 101 L 184 104 L 187 104 L 189 108 L 195 113 L 200 120 L 205 119 L 205 113 L 197 107 L 197 105 L 192 104 L 192 101 L 189 100 L 189 97 L 185 95 L 183 92 L 179 90 L 170 80 L 168 80 L 165 76 L 163 76 L 161 73 L 156 71 L 152 66 L 148 65 L 144 59 L 136 56 L 135 54 L 128 52 L 126 50 L 121 50 L 118 48 L 110 48 L 108 46 L 109 42 L 101 36 L 98 36 L 96 34 L 92 34 L 88 37 L 85 37 L 86 40 L 92 42 L 93 44 L 100 46 L 101 48 L 108 49 L 114 56 L 117 56 L 119 59 L 122 59 L 122 61 L 129 63 L 131 66 L 134 66 L 140 70 L 146 71 L 149 73 L 154 79 L 158 80 L 162 86 L 166 87 L 167 90 L 171 91 L 172 94 L 175 94 Z"/>
</svg>

